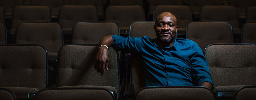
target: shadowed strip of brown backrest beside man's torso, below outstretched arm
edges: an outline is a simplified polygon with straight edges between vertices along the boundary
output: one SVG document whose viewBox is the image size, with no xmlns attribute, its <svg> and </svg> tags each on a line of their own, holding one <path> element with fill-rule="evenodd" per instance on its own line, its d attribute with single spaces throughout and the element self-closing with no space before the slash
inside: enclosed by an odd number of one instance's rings
<svg viewBox="0 0 256 100">
<path fill-rule="evenodd" d="M 131 54 L 131 83 L 134 85 L 135 93 L 142 87 L 145 87 L 145 76 L 140 58 L 135 54 Z"/>
</svg>

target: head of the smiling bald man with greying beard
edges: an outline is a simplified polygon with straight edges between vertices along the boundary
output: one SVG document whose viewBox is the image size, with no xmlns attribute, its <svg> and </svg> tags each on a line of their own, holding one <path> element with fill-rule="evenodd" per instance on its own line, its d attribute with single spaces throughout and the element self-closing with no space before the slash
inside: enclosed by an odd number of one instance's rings
<svg viewBox="0 0 256 100">
<path fill-rule="evenodd" d="M 154 29 L 159 42 L 171 43 L 174 40 L 175 33 L 178 30 L 177 19 L 170 12 L 160 13 L 156 17 Z"/>
</svg>

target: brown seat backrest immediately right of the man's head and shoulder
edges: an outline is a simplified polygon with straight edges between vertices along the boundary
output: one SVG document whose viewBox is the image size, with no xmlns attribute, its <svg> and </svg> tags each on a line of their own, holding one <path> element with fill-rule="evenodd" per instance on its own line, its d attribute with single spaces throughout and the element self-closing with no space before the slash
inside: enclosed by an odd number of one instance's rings
<svg viewBox="0 0 256 100">
<path fill-rule="evenodd" d="M 191 22 L 186 28 L 186 39 L 195 41 L 204 51 L 212 43 L 233 43 L 232 32 L 226 22 Z"/>
</svg>

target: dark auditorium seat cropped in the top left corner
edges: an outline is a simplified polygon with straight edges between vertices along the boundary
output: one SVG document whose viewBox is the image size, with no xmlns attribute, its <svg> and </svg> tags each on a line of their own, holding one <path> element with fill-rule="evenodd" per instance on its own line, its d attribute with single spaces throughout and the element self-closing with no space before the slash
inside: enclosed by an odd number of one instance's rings
<svg viewBox="0 0 256 100">
<path fill-rule="evenodd" d="M 5 9 L 7 19 L 12 18 L 12 10 L 15 6 L 23 5 L 23 0 L 0 0 L 0 6 Z"/>
</svg>

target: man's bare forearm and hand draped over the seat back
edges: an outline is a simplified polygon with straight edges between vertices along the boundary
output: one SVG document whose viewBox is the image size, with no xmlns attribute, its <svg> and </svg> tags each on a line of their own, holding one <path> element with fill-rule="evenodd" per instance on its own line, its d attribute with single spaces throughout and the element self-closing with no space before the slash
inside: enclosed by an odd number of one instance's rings
<svg viewBox="0 0 256 100">
<path fill-rule="evenodd" d="M 108 35 L 102 38 L 100 41 L 100 45 L 106 45 L 110 47 L 113 44 L 112 35 Z M 101 46 L 99 48 L 98 53 L 96 54 L 95 61 L 94 61 L 94 69 L 97 70 L 98 73 L 101 75 L 104 74 L 104 69 L 108 70 L 108 48 L 106 46 Z"/>
</svg>

